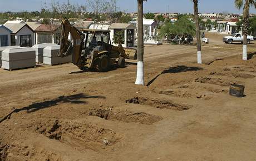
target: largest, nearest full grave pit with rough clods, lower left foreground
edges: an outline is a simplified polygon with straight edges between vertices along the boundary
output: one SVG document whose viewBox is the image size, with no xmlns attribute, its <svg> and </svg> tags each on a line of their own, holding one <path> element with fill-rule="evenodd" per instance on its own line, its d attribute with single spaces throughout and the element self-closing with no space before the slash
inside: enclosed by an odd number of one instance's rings
<svg viewBox="0 0 256 161">
<path fill-rule="evenodd" d="M 39 125 L 36 130 L 38 133 L 62 143 L 66 143 L 66 140 L 70 139 L 79 140 L 79 142 L 85 143 L 86 147 L 95 149 L 104 148 L 106 145 L 113 145 L 119 141 L 119 137 L 113 130 L 88 123 L 54 120 L 49 121 L 48 124 Z"/>
</svg>

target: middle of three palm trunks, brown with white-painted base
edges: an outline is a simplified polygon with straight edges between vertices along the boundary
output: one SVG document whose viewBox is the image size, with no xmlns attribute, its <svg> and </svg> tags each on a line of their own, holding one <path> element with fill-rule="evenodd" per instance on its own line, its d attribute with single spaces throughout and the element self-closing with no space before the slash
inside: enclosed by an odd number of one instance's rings
<svg viewBox="0 0 256 161">
<path fill-rule="evenodd" d="M 198 17 L 198 0 L 193 0 L 194 3 L 194 18 L 195 18 L 195 29 L 196 29 L 196 43 L 198 44 L 198 64 L 202 63 L 201 58 L 201 39 L 200 39 L 200 27 Z"/>
</svg>

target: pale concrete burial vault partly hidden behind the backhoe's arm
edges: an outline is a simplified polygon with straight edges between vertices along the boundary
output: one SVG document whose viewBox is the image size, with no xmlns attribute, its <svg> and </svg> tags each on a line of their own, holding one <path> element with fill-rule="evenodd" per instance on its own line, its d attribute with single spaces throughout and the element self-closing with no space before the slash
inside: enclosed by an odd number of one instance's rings
<svg viewBox="0 0 256 161">
<path fill-rule="evenodd" d="M 43 49 L 43 63 L 49 65 L 63 64 L 72 62 L 72 55 L 67 57 L 58 57 L 58 52 L 60 51 L 60 46 L 48 46 Z"/>
</svg>

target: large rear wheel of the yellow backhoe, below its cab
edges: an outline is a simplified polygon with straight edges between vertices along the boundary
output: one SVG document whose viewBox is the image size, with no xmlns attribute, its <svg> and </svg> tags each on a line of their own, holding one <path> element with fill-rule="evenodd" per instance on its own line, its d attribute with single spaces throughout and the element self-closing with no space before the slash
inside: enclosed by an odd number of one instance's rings
<svg viewBox="0 0 256 161">
<path fill-rule="evenodd" d="M 95 60 L 95 69 L 98 72 L 107 72 L 109 71 L 109 57 L 107 54 L 102 54 L 99 58 Z"/>
</svg>

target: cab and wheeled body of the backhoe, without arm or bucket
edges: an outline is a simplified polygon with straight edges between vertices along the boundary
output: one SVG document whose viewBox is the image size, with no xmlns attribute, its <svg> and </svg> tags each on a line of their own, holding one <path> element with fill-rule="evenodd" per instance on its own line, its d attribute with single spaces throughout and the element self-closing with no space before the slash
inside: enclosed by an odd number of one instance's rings
<svg viewBox="0 0 256 161">
<path fill-rule="evenodd" d="M 120 53 L 122 47 L 116 48 L 111 45 L 110 31 L 85 29 L 82 32 L 85 34 L 82 57 L 89 68 L 95 68 L 99 72 L 108 71 L 109 67 L 116 63 L 117 58 L 119 67 L 125 67 L 127 56 Z"/>
</svg>

